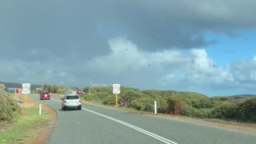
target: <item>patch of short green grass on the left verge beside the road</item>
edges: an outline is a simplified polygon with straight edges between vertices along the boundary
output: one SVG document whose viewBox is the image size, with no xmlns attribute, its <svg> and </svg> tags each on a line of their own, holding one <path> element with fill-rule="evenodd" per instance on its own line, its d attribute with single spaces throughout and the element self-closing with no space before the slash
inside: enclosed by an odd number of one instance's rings
<svg viewBox="0 0 256 144">
<path fill-rule="evenodd" d="M 33 138 L 27 132 L 37 126 L 44 126 L 50 117 L 45 111 L 38 114 L 37 108 L 22 108 L 22 114 L 15 118 L 13 126 L 5 132 L 0 133 L 0 143 L 26 143 Z"/>
</svg>

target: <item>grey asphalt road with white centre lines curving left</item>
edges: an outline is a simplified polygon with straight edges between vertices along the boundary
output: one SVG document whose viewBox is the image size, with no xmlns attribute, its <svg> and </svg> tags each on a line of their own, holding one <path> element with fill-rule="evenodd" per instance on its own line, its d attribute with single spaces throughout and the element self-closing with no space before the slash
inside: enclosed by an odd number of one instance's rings
<svg viewBox="0 0 256 144">
<path fill-rule="evenodd" d="M 170 143 L 170 144 L 254 144 L 256 136 L 198 126 L 150 115 L 128 114 L 121 110 L 82 104 L 82 110 L 61 110 L 60 98 L 39 100 L 58 113 L 48 141 L 50 144 L 80 143 Z M 42 108 L 43 110 L 43 108 Z"/>
</svg>

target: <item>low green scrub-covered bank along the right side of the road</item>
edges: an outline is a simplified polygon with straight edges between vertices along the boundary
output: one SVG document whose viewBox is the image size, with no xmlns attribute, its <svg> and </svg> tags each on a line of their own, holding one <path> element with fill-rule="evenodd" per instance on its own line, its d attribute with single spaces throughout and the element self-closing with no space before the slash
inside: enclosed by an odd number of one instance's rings
<svg viewBox="0 0 256 144">
<path fill-rule="evenodd" d="M 103 105 L 115 105 L 112 87 L 86 87 L 83 95 L 86 101 Z M 175 90 L 138 90 L 121 87 L 118 106 L 154 112 L 154 101 L 158 113 L 179 114 L 194 118 L 221 118 L 232 121 L 256 122 L 256 98 L 254 97 L 213 97 Z"/>
</svg>

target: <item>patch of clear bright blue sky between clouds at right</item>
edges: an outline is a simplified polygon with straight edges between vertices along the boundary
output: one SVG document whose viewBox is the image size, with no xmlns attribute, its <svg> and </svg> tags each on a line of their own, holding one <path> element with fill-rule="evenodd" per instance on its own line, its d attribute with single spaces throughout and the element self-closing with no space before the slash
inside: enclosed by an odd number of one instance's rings
<svg viewBox="0 0 256 144">
<path fill-rule="evenodd" d="M 214 39 L 218 43 L 206 46 L 204 49 L 218 66 L 225 66 L 241 60 L 250 61 L 256 55 L 255 38 L 255 30 L 240 31 L 234 38 L 230 38 L 225 34 L 206 34 L 206 40 Z"/>
</svg>

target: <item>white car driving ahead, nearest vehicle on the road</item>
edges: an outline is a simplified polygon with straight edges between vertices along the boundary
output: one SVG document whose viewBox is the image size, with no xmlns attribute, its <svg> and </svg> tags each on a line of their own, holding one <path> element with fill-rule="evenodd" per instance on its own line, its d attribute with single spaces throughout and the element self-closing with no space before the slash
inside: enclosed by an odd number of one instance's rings
<svg viewBox="0 0 256 144">
<path fill-rule="evenodd" d="M 62 98 L 62 110 L 81 110 L 82 101 L 78 94 L 65 94 Z"/>
</svg>

